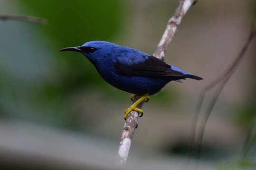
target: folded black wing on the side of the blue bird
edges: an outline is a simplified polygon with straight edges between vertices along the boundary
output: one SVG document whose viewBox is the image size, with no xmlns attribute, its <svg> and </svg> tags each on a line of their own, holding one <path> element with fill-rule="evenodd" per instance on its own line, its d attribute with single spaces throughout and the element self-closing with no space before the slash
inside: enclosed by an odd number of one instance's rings
<svg viewBox="0 0 256 170">
<path fill-rule="evenodd" d="M 120 62 L 114 63 L 114 68 L 116 73 L 124 76 L 152 76 L 152 77 L 162 77 L 162 76 L 173 76 L 183 78 L 183 74 L 179 71 L 174 71 L 171 66 L 166 64 L 161 59 L 157 59 L 150 56 L 144 62 L 133 64 L 131 66 L 122 65 Z"/>
</svg>

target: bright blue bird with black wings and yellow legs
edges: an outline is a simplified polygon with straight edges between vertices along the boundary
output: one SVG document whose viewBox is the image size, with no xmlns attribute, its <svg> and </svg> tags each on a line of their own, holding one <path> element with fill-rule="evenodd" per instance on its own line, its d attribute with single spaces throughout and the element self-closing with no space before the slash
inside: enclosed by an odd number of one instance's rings
<svg viewBox="0 0 256 170">
<path fill-rule="evenodd" d="M 143 111 L 136 106 L 144 100 L 148 101 L 149 95 L 158 93 L 170 81 L 202 79 L 147 53 L 111 42 L 86 42 L 82 46 L 68 47 L 60 51 L 77 51 L 84 54 L 106 82 L 125 92 L 133 93 L 132 100 L 136 95 L 142 95 L 124 111 L 124 119 L 132 110 L 138 111 L 142 116 Z"/>
</svg>

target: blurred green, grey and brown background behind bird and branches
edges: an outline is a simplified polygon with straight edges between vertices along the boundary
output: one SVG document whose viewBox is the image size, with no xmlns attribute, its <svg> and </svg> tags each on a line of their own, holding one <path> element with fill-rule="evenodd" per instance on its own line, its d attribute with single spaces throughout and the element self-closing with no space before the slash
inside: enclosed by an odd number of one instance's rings
<svg viewBox="0 0 256 170">
<path fill-rule="evenodd" d="M 0 14 L 47 19 L 47 25 L 0 21 L 0 166 L 114 169 L 130 94 L 104 82 L 81 54 L 58 51 L 103 40 L 152 54 L 178 3 L 0 0 Z M 199 0 L 190 8 L 165 61 L 204 80 L 171 82 L 144 104 L 128 168 L 255 168 L 255 143 L 240 158 L 256 126 L 256 40 L 219 96 L 200 159 L 187 156 L 199 92 L 246 42 L 255 7 L 255 0 Z"/>
</svg>

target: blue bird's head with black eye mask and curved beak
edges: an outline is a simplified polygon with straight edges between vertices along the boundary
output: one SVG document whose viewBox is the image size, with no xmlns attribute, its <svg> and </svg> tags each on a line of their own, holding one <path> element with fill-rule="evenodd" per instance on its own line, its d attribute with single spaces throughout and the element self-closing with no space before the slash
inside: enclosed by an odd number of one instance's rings
<svg viewBox="0 0 256 170">
<path fill-rule="evenodd" d="M 105 41 L 92 41 L 86 42 L 82 46 L 78 47 L 67 47 L 60 51 L 76 51 L 84 54 L 93 64 L 97 64 L 100 61 L 106 59 L 106 56 L 113 53 L 114 43 Z"/>
</svg>

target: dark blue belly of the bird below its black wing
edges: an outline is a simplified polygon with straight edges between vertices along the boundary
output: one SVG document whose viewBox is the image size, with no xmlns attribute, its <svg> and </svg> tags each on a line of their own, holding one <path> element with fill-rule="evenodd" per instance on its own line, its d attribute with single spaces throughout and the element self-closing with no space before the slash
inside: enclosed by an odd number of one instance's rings
<svg viewBox="0 0 256 170">
<path fill-rule="evenodd" d="M 134 94 L 149 93 L 150 95 L 158 93 L 170 81 L 164 78 L 146 76 L 123 76 L 114 72 L 112 72 L 111 76 L 107 74 L 102 75 L 102 77 L 109 84 L 125 92 Z"/>
</svg>

